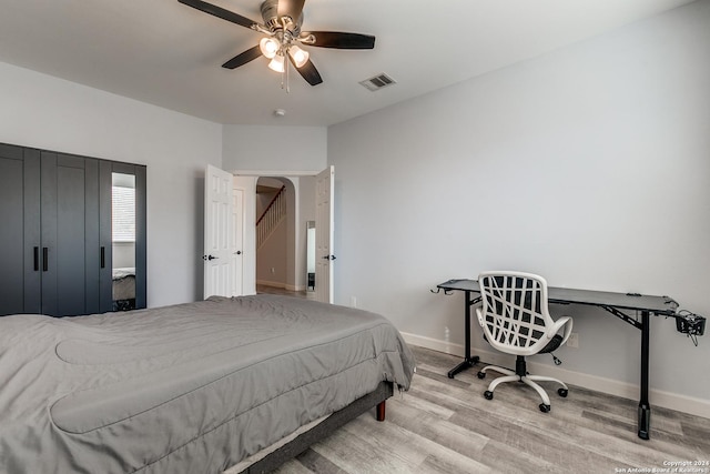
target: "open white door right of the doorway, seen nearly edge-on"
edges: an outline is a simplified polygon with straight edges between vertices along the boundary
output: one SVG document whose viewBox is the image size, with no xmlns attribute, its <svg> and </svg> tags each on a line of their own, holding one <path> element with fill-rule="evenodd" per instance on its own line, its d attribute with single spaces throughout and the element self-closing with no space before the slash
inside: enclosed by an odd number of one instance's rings
<svg viewBox="0 0 710 474">
<path fill-rule="evenodd" d="M 318 173 L 315 182 L 315 299 L 333 303 L 333 183 L 335 167 Z"/>
</svg>

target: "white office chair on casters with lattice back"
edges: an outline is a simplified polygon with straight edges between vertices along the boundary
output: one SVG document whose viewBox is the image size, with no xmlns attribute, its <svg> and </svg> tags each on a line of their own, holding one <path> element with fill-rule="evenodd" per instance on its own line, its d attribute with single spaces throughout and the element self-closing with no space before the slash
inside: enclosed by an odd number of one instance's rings
<svg viewBox="0 0 710 474">
<path fill-rule="evenodd" d="M 549 353 L 567 342 L 572 332 L 572 320 L 562 316 L 557 321 L 550 317 L 547 307 L 547 282 L 544 278 L 523 272 L 484 272 L 478 275 L 483 306 L 476 309 L 478 323 L 484 337 L 500 352 L 515 354 L 515 371 L 488 365 L 478 372 L 484 379 L 487 371 L 496 371 L 505 376 L 490 382 L 484 393 L 493 399 L 496 386 L 504 382 L 518 381 L 531 386 L 542 397 L 540 411 L 550 411 L 547 392 L 536 382 L 557 382 L 562 385 L 557 393 L 567 396 L 567 385 L 552 377 L 530 375 L 527 372 L 527 355 Z M 559 334 L 564 329 L 564 333 Z"/>
</svg>

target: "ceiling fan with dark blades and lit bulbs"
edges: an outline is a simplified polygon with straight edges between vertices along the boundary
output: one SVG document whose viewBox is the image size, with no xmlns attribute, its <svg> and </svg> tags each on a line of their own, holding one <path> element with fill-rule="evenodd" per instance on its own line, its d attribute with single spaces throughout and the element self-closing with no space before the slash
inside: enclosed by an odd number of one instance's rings
<svg viewBox="0 0 710 474">
<path fill-rule="evenodd" d="M 298 44 L 335 49 L 373 49 L 375 47 L 375 37 L 369 34 L 301 31 L 305 0 L 265 0 L 261 7 L 263 24 L 202 0 L 178 1 L 264 34 L 257 46 L 222 64 L 227 69 L 239 68 L 265 56 L 271 59 L 268 63 L 271 69 L 287 74 L 288 67 L 285 59 L 288 58 L 303 79 L 311 85 L 317 85 L 323 82 L 323 79 L 313 65 L 308 52 Z"/>
</svg>

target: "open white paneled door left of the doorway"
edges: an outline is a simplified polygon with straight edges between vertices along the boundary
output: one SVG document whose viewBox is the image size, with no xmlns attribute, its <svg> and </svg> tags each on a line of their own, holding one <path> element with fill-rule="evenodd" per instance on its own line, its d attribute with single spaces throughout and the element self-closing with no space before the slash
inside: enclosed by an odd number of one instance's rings
<svg viewBox="0 0 710 474">
<path fill-rule="evenodd" d="M 232 295 L 232 184 L 226 171 L 207 165 L 204 183 L 204 297 Z"/>
</svg>

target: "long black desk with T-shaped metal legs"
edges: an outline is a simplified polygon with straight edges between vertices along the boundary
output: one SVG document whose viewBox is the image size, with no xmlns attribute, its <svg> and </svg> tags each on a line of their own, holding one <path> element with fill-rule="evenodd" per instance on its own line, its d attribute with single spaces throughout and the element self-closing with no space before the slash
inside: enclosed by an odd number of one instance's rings
<svg viewBox="0 0 710 474">
<path fill-rule="evenodd" d="M 449 280 L 437 285 L 437 288 L 439 291 L 444 290 L 445 294 L 449 294 L 452 291 L 463 291 L 466 296 L 464 301 L 466 314 L 464 362 L 449 371 L 449 379 L 454 379 L 454 375 L 470 367 L 479 360 L 478 356 L 470 355 L 470 306 L 480 302 L 480 288 L 476 280 Z M 473 293 L 476 295 L 471 297 Z M 648 402 L 649 316 L 651 314 L 674 316 L 678 303 L 668 296 L 633 295 L 554 286 L 547 288 L 547 297 L 550 303 L 587 304 L 601 307 L 631 324 L 633 327 L 641 330 L 641 394 L 639 400 L 638 428 L 639 437 L 648 440 L 651 420 L 651 405 Z M 640 320 L 623 313 L 625 310 L 640 311 Z"/>
</svg>

